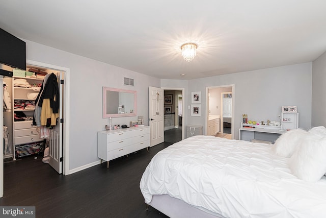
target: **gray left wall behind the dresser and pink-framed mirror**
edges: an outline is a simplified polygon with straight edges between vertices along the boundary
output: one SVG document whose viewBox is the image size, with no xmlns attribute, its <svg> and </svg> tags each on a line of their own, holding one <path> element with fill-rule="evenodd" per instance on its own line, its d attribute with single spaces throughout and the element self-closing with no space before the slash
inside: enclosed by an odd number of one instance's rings
<svg viewBox="0 0 326 218">
<path fill-rule="evenodd" d="M 99 160 L 97 132 L 108 125 L 108 118 L 102 118 L 103 86 L 137 90 L 137 115 L 143 115 L 148 125 L 148 87 L 159 87 L 159 79 L 24 41 L 26 59 L 70 69 L 70 170 Z M 134 79 L 134 87 L 123 85 L 124 77 Z M 112 123 L 128 125 L 130 120 L 137 120 L 137 116 L 112 118 Z"/>
</svg>

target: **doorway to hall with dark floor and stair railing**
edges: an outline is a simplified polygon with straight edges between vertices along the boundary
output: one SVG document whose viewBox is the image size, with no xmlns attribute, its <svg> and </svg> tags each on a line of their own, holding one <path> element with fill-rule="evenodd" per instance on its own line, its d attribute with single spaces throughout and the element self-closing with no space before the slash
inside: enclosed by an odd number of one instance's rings
<svg viewBox="0 0 326 218">
<path fill-rule="evenodd" d="M 184 88 L 164 89 L 164 141 L 175 143 L 184 139 Z M 171 101 L 168 101 L 171 100 Z"/>
</svg>

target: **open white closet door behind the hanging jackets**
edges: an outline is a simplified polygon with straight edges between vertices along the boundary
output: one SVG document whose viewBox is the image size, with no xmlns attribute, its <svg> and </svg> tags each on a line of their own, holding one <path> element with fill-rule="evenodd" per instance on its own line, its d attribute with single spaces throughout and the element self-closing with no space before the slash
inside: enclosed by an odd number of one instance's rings
<svg viewBox="0 0 326 218">
<path fill-rule="evenodd" d="M 49 165 L 52 166 L 59 174 L 62 174 L 62 163 L 63 163 L 63 123 L 61 119 L 63 118 L 63 107 L 64 107 L 64 84 L 61 84 L 60 81 L 64 81 L 64 72 L 60 71 L 57 74 L 58 85 L 60 92 L 60 107 L 59 107 L 59 118 L 58 124 L 50 131 L 49 137 Z"/>
</svg>

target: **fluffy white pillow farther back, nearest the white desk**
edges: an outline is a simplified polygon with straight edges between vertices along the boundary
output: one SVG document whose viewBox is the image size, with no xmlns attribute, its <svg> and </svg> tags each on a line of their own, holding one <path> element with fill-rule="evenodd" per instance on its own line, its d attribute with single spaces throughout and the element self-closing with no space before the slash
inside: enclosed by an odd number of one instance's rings
<svg viewBox="0 0 326 218">
<path fill-rule="evenodd" d="M 307 136 L 308 132 L 305 130 L 289 130 L 275 141 L 271 150 L 274 154 L 282 157 L 291 157 L 294 151 L 298 148 L 299 143 Z"/>
</svg>

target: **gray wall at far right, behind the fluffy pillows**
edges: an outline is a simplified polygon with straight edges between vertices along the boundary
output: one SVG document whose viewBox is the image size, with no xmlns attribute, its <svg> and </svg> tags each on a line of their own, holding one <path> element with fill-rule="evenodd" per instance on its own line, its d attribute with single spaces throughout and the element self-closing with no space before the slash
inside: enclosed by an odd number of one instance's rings
<svg viewBox="0 0 326 218">
<path fill-rule="evenodd" d="M 312 126 L 326 127 L 326 52 L 312 64 Z"/>
</svg>

